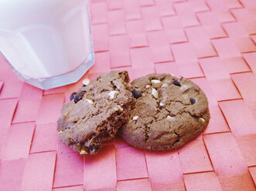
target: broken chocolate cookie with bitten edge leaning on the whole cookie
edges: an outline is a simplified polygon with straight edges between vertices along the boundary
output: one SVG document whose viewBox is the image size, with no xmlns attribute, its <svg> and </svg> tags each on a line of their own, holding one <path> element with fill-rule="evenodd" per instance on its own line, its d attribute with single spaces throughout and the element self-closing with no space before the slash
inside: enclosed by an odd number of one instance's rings
<svg viewBox="0 0 256 191">
<path fill-rule="evenodd" d="M 86 79 L 63 106 L 57 130 L 60 141 L 80 154 L 95 154 L 128 122 L 131 85 L 126 71 L 112 71 L 91 82 Z"/>
</svg>

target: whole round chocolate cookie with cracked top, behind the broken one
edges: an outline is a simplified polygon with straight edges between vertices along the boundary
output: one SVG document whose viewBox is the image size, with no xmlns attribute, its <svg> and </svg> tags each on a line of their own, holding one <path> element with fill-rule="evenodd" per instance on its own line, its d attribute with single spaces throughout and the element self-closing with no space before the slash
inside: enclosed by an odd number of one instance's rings
<svg viewBox="0 0 256 191">
<path fill-rule="evenodd" d="M 121 136 L 152 151 L 177 149 L 195 139 L 210 120 L 206 95 L 188 79 L 151 74 L 131 82 L 135 106 Z"/>
</svg>

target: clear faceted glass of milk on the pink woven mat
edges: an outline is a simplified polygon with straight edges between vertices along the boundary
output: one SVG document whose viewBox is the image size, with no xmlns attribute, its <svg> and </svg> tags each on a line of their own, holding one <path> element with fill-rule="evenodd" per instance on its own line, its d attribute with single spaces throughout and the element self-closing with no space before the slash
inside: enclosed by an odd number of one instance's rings
<svg viewBox="0 0 256 191">
<path fill-rule="evenodd" d="M 40 89 L 77 82 L 94 64 L 88 1 L 0 0 L 0 52 Z"/>
</svg>

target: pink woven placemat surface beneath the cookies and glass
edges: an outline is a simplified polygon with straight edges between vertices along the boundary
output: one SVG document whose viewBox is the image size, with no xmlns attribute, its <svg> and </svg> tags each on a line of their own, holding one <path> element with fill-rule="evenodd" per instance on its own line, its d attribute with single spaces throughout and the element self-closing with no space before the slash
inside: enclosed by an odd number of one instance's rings
<svg viewBox="0 0 256 191">
<path fill-rule="evenodd" d="M 42 91 L 1 59 L 0 189 L 255 190 L 256 1 L 92 0 L 90 12 L 96 62 L 84 78 L 126 69 L 131 79 L 152 72 L 192 79 L 209 99 L 209 126 L 172 152 L 116 137 L 83 157 L 56 132 L 82 79 Z"/>
</svg>

